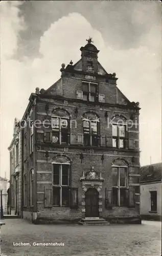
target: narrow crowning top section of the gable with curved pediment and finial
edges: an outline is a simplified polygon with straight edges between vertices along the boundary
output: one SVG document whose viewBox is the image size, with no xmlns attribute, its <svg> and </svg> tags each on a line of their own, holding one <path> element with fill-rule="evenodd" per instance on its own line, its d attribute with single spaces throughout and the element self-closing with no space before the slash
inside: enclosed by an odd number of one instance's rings
<svg viewBox="0 0 162 256">
<path fill-rule="evenodd" d="M 89 74 L 98 72 L 98 53 L 96 46 L 91 44 L 91 38 L 87 39 L 87 44 L 80 48 L 82 59 L 82 71 Z"/>
</svg>

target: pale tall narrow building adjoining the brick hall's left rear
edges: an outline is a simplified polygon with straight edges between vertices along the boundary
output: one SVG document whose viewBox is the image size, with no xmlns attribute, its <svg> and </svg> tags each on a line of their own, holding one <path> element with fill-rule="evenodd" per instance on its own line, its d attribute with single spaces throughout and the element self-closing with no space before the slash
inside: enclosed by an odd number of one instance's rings
<svg viewBox="0 0 162 256">
<path fill-rule="evenodd" d="M 10 188 L 8 194 L 10 202 L 8 202 L 9 214 L 20 215 L 20 193 L 21 193 L 21 130 L 19 121 L 14 120 L 13 139 L 8 147 L 10 152 Z"/>
</svg>

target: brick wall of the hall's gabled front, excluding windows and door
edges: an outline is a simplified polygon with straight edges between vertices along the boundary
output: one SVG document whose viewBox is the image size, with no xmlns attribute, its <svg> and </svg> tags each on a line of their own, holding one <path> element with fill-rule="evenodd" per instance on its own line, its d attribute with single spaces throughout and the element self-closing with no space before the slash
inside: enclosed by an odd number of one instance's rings
<svg viewBox="0 0 162 256">
<path fill-rule="evenodd" d="M 91 46 L 90 46 L 91 47 Z M 112 148 L 112 145 L 105 148 L 88 147 L 85 145 L 56 145 L 52 143 L 43 142 L 44 132 L 49 132 L 51 129 L 45 129 L 40 125 L 39 128 L 34 129 L 34 152 L 30 154 L 30 128 L 27 126 L 24 129 L 24 135 L 27 135 L 27 157 L 24 161 L 24 174 L 27 175 L 27 207 L 23 207 L 24 216 L 30 218 L 30 213 L 38 212 L 38 217 L 53 217 L 56 219 L 62 218 L 81 218 L 84 216 L 83 210 L 83 189 L 80 183 L 80 177 L 83 171 L 86 173 L 90 170 L 91 166 L 95 167 L 97 173 L 102 173 L 104 178 L 103 187 L 101 191 L 101 205 L 102 210 L 100 215 L 107 216 L 138 216 L 140 214 L 140 199 L 137 198 L 134 208 L 127 207 L 112 207 L 111 210 L 105 209 L 105 188 L 112 186 L 111 181 L 111 166 L 115 159 L 123 159 L 127 165 L 127 175 L 129 184 L 138 184 L 138 174 L 140 167 L 140 153 L 139 153 L 139 127 L 137 108 L 130 108 L 130 102 L 120 92 L 116 86 L 117 78 L 103 71 L 103 76 L 98 76 L 98 72 L 102 71 L 101 65 L 98 63 L 97 50 L 92 53 L 92 65 L 94 65 L 94 75 L 90 74 L 92 81 L 98 83 L 99 94 L 105 95 L 105 103 L 100 102 L 85 102 L 77 99 L 76 91 L 82 91 L 82 80 L 88 79 L 86 76 L 87 56 L 89 52 L 85 49 L 82 50 L 82 72 L 68 71 L 73 67 L 67 67 L 61 70 L 61 78 L 53 84 L 47 91 L 40 95 L 34 95 L 36 98 L 35 106 L 31 114 L 33 121 L 40 120 L 41 123 L 45 120 L 51 120 L 52 111 L 56 108 L 63 108 L 70 113 L 71 137 L 77 134 L 83 134 L 83 121 L 82 117 L 87 111 L 96 113 L 100 117 L 100 135 L 112 137 L 111 126 L 108 126 L 108 120 L 118 115 L 119 119 L 124 120 L 137 120 L 137 126 L 133 126 L 128 131 L 130 139 L 129 146 L 126 149 Z M 85 51 L 84 51 L 85 50 Z M 89 51 L 89 50 L 88 50 Z M 99 70 L 98 70 L 99 69 Z M 106 78 L 107 76 L 107 78 Z M 86 78 L 87 77 L 87 78 Z M 94 79 L 94 80 L 93 80 Z M 90 81 L 90 80 L 89 80 Z M 108 81 L 108 82 L 107 82 Z M 34 98 L 32 99 L 34 100 Z M 76 115 L 76 108 L 78 114 Z M 31 109 L 28 111 L 30 112 Z M 27 112 L 27 113 L 28 113 Z M 29 116 L 29 115 L 28 115 Z M 106 116 L 106 117 L 105 117 Z M 26 114 L 27 117 L 27 114 Z M 76 126 L 77 124 L 77 126 Z M 131 145 L 131 146 L 130 146 Z M 45 153 L 48 152 L 48 157 Z M 81 163 L 80 154 L 83 153 L 84 159 Z M 52 161 L 55 156 L 63 154 L 71 160 L 72 178 L 71 185 L 78 187 L 78 210 L 70 209 L 68 207 L 52 207 L 44 208 L 44 187 L 49 185 L 52 187 Z M 101 157 L 104 155 L 102 162 Z M 30 170 L 34 169 L 34 207 L 30 207 Z M 135 175 L 135 177 L 133 176 Z M 138 189 L 136 189 L 137 191 Z M 137 197 L 139 193 L 136 193 Z M 32 217 L 33 218 L 33 217 Z"/>
</svg>

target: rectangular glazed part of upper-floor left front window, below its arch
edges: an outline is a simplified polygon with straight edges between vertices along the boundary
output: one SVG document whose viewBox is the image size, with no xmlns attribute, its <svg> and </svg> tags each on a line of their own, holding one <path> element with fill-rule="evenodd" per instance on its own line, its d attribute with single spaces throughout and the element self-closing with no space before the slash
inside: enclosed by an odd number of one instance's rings
<svg viewBox="0 0 162 256">
<path fill-rule="evenodd" d="M 67 117 L 52 117 L 52 142 L 68 144 L 70 138 L 70 120 Z"/>
</svg>

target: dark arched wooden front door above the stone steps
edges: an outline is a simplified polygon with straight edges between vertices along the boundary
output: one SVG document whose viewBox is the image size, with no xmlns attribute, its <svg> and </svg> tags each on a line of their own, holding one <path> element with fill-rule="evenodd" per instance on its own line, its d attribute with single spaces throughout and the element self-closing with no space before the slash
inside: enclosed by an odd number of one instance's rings
<svg viewBox="0 0 162 256">
<path fill-rule="evenodd" d="M 85 217 L 99 217 L 99 193 L 89 188 L 85 193 Z"/>
</svg>

